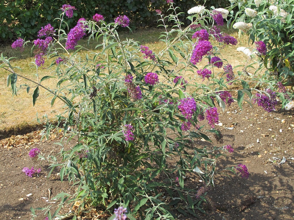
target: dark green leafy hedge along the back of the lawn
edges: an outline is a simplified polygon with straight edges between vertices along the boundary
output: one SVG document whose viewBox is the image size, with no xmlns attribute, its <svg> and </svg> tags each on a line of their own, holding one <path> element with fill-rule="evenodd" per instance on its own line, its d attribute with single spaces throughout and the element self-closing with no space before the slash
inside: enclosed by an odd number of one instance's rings
<svg viewBox="0 0 294 220">
<path fill-rule="evenodd" d="M 174 0 L 175 6 L 182 11 L 204 4 L 194 0 Z M 0 40 L 14 40 L 16 37 L 26 39 L 36 38 L 39 29 L 51 23 L 57 27 L 57 21 L 53 21 L 62 5 L 70 4 L 76 7 L 73 18 L 66 18 L 69 28 L 76 25 L 76 21 L 83 17 L 91 19 L 95 13 L 103 15 L 106 22 L 113 21 L 118 15 L 126 15 L 131 20 L 131 26 L 157 25 L 155 9 L 161 9 L 163 13 L 168 9 L 165 0 L 4 0 L 0 2 Z M 225 7 L 228 1 L 206 1 L 206 7 Z M 183 17 L 183 21 L 186 19 Z"/>
</svg>

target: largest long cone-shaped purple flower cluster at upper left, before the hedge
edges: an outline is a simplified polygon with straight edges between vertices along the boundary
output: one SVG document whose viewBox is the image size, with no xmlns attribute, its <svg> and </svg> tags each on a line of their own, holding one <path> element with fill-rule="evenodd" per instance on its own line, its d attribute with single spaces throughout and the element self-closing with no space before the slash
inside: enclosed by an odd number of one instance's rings
<svg viewBox="0 0 294 220">
<path fill-rule="evenodd" d="M 65 43 L 65 49 L 74 50 L 74 47 L 78 44 L 78 41 L 83 38 L 85 35 L 85 28 L 83 27 L 83 24 L 81 22 L 78 22 L 74 28 L 72 28 L 69 31 L 69 34 L 67 35 L 67 40 Z"/>
</svg>

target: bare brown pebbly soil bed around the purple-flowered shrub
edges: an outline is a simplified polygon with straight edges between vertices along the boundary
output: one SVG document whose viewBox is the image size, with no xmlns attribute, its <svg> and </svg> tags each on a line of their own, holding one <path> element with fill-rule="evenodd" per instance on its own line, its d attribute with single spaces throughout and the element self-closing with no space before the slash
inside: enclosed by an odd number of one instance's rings
<svg viewBox="0 0 294 220">
<path fill-rule="evenodd" d="M 283 119 L 285 123 L 282 123 Z M 223 126 L 216 127 L 224 136 L 224 144 L 232 145 L 234 152 L 228 153 L 226 158 L 218 159 L 219 169 L 242 163 L 248 167 L 250 176 L 248 179 L 242 179 L 233 174 L 231 178 L 216 175 L 216 187 L 210 189 L 206 196 L 208 204 L 205 205 L 205 210 L 208 216 L 199 213 L 199 218 L 294 219 L 294 112 L 278 109 L 267 113 L 257 106 L 252 109 L 248 105 L 245 105 L 242 111 L 233 104 L 221 114 L 220 122 Z M 227 129 L 232 125 L 232 130 Z M 208 142 L 202 141 L 197 144 L 209 145 Z M 49 188 L 52 192 L 51 198 L 61 191 L 74 192 L 67 182 L 59 181 L 56 173 L 49 179 L 46 178 L 49 172 L 48 164 L 40 164 L 40 161 L 31 159 L 28 155 L 29 150 L 34 147 L 40 148 L 44 154 L 51 151 L 57 153 L 60 148 L 53 142 L 45 142 L 33 146 L 0 149 L 1 219 L 30 219 L 30 207 L 50 205 L 46 199 L 41 198 L 48 197 Z M 286 162 L 279 165 L 283 157 Z M 39 177 L 27 177 L 22 172 L 23 167 L 31 166 L 42 169 Z M 33 195 L 27 197 L 29 193 Z M 44 219 L 44 216 L 39 216 L 38 219 Z"/>
</svg>

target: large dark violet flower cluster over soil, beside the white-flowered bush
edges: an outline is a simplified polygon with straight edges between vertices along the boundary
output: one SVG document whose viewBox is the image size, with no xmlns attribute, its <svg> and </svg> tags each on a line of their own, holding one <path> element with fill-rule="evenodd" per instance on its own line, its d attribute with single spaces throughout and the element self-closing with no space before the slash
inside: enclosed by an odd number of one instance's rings
<svg viewBox="0 0 294 220">
<path fill-rule="evenodd" d="M 267 89 L 265 91 L 268 94 L 260 94 L 256 93 L 255 96 L 259 97 L 259 99 L 254 99 L 257 102 L 258 106 L 261 106 L 265 111 L 272 112 L 275 110 L 275 106 L 277 105 L 276 94 L 271 89 Z"/>
</svg>

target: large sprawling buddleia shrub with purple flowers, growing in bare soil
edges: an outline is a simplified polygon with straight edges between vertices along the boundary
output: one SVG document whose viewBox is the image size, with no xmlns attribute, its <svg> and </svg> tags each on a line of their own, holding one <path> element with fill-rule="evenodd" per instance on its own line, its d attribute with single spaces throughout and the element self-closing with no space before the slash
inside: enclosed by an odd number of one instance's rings
<svg viewBox="0 0 294 220">
<path fill-rule="evenodd" d="M 159 26 L 165 30 L 160 37 L 165 47 L 158 53 L 133 39 L 120 38 L 117 28 L 128 28 L 127 16 L 107 23 L 103 15 L 93 14 L 91 20 L 79 19 L 69 32 L 48 24 L 33 42 L 19 38 L 12 44 L 22 49 L 33 43 L 36 76 L 45 59 L 51 60 L 48 68 L 54 70 L 50 76 L 28 79 L 12 66 L 13 58 L 1 56 L 0 67 L 10 73 L 7 84 L 13 94 L 19 89 L 34 89 L 35 104 L 42 87 L 51 94 L 51 105 L 56 99 L 65 105 L 64 113 L 58 116 L 59 125 L 67 140 L 77 143 L 67 150 L 61 142 L 59 154 L 39 155 L 51 163 L 48 177 L 59 167 L 61 181 L 67 177 L 77 187 L 73 199 L 66 193 L 55 197 L 61 199 L 61 205 L 79 200 L 79 210 L 90 204 L 108 214 L 117 208 L 112 217 L 116 219 L 134 219 L 135 215 L 176 219 L 179 213 L 197 216 L 197 210 L 206 213 L 202 203 L 214 186 L 216 173 L 228 175 L 228 170 L 248 178 L 245 165 L 224 170 L 217 167 L 218 158 L 233 152 L 215 130 L 219 114 L 233 102 L 240 107 L 243 100 L 250 103 L 252 92 L 258 92 L 250 89 L 243 71 L 236 72 L 220 58 L 222 48 L 237 43 L 220 32 L 228 11 L 193 7 L 188 11 L 192 24 L 185 26 L 179 18 L 183 13 L 180 8 L 172 0 L 167 4 L 169 15 L 157 10 Z M 60 10 L 56 19 L 62 27 L 74 8 L 64 5 Z M 167 22 L 174 25 L 170 28 Z M 97 50 L 78 45 L 85 35 L 89 42 L 96 40 Z M 88 51 L 85 56 L 79 53 L 81 49 Z M 201 61 L 205 66 L 198 68 Z M 56 88 L 45 87 L 43 82 L 52 77 Z M 35 87 L 20 85 L 19 78 Z M 237 97 L 230 89 L 233 83 L 243 87 Z M 48 121 L 44 135 L 53 127 Z M 218 144 L 207 147 L 194 143 L 212 143 L 209 135 Z M 170 159 L 175 162 L 168 162 Z M 189 186 L 187 175 L 202 181 L 198 188 Z M 51 219 L 58 216 L 60 208 L 53 214 L 50 207 L 42 210 Z"/>
</svg>

